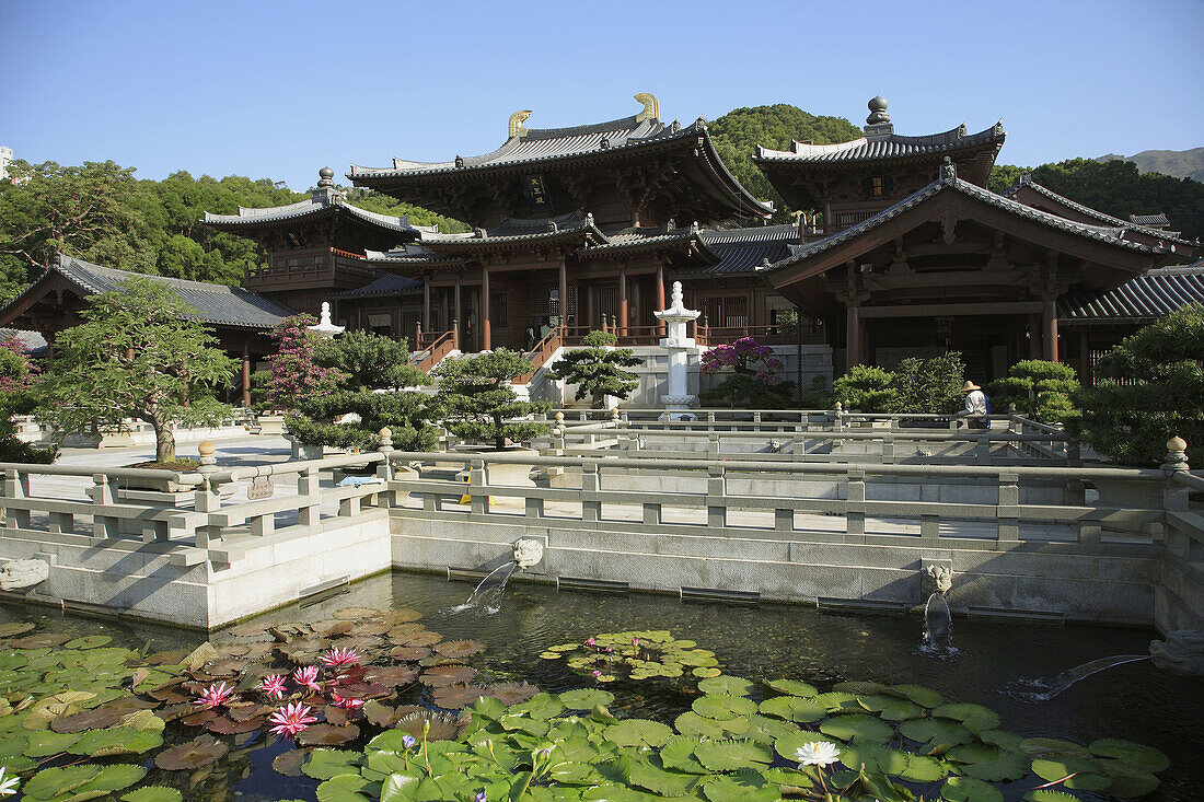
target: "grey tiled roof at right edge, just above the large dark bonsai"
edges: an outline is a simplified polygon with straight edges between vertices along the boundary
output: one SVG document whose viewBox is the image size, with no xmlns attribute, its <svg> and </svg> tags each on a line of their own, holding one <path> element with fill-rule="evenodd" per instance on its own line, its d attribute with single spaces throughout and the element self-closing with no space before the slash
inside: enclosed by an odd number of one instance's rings
<svg viewBox="0 0 1204 802">
<path fill-rule="evenodd" d="M 1100 293 L 1073 289 L 1061 297 L 1067 323 L 1149 323 L 1191 303 L 1204 305 L 1204 261 L 1188 267 L 1155 267 Z"/>
</svg>

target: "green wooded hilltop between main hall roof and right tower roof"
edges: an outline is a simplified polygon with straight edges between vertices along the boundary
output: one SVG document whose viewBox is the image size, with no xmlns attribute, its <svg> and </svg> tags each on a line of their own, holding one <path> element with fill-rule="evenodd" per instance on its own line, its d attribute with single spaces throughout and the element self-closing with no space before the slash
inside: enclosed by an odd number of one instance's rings
<svg viewBox="0 0 1204 802">
<path fill-rule="evenodd" d="M 861 129 L 843 117 L 815 116 L 789 104 L 736 108 L 709 123 L 715 151 L 754 196 L 774 202 L 774 220 L 790 220 L 791 211 L 765 175 L 752 164 L 756 146 L 789 151 L 792 140 L 830 145 L 861 136 Z"/>
</svg>

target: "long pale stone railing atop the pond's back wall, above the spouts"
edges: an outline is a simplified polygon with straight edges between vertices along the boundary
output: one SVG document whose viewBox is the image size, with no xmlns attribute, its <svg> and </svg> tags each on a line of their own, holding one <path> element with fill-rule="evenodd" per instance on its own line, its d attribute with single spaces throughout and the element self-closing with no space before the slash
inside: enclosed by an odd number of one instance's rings
<svg viewBox="0 0 1204 802">
<path fill-rule="evenodd" d="M 394 459 L 431 458 L 399 453 Z M 777 537 L 807 532 L 808 538 L 840 543 L 917 536 L 921 542 L 995 550 L 1035 527 L 1051 542 L 1098 547 L 1106 527 L 1116 536 L 1114 546 L 1150 549 L 1161 544 L 1157 529 L 1178 499 L 1178 484 L 1168 482 L 1165 472 L 1138 468 L 512 454 L 441 454 L 438 460 L 468 467 L 467 488 L 421 472 L 399 477 L 390 486 L 403 499 L 417 499 L 427 513 L 443 515 L 496 514 L 500 521 L 518 515 L 533 526 L 562 527 L 573 521 L 592 525 L 607 520 L 604 508 L 621 508 L 616 523 L 654 525 L 657 532 L 721 529 L 725 536 L 755 537 L 769 530 Z M 491 470 L 513 465 L 555 480 L 548 486 L 490 482 Z M 1096 489 L 1091 503 L 1085 501 L 1087 485 Z M 459 503 L 464 496 L 468 505 Z M 674 512 L 666 514 L 669 509 Z M 867 532 L 867 519 L 885 530 Z M 946 526 L 955 532 L 946 535 L 943 521 L 961 524 L 964 531 L 958 535 L 957 526 Z"/>
</svg>

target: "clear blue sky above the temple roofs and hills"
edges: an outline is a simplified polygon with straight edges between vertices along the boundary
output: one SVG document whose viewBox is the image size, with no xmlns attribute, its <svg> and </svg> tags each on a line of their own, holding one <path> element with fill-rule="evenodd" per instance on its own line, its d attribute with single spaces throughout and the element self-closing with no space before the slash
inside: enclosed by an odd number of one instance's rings
<svg viewBox="0 0 1204 802">
<path fill-rule="evenodd" d="M 0 145 L 283 179 L 472 155 L 532 128 L 793 104 L 896 130 L 1003 118 L 999 161 L 1204 145 L 1204 1 L 0 0 Z"/>
</svg>

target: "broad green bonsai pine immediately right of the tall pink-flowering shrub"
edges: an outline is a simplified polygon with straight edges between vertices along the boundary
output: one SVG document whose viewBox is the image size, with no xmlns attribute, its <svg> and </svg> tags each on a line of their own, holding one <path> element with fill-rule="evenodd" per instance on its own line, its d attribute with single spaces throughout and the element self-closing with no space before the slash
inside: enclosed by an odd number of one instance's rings
<svg viewBox="0 0 1204 802">
<path fill-rule="evenodd" d="M 377 432 L 388 426 L 400 449 L 431 449 L 436 431 L 427 423 L 430 396 L 402 389 L 430 384 L 430 379 L 407 365 L 408 359 L 405 340 L 372 331 L 350 331 L 323 341 L 314 350 L 315 365 L 337 370 L 343 378 L 338 389 L 300 400 L 297 412 L 288 418 L 289 434 L 302 443 L 370 449 L 379 444 Z M 332 423 L 347 413 L 359 420 Z"/>
</svg>

